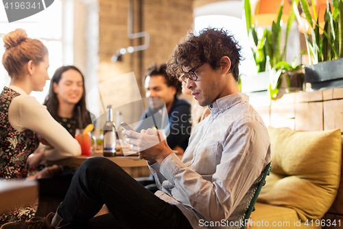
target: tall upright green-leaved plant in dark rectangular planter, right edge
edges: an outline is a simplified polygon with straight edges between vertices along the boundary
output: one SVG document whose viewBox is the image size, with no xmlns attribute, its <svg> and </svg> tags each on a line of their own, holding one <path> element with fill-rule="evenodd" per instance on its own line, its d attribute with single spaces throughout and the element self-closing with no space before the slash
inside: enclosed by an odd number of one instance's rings
<svg viewBox="0 0 343 229">
<path fill-rule="evenodd" d="M 314 0 L 311 0 L 314 6 Z M 343 87 L 343 2 L 333 0 L 333 8 L 327 1 L 324 14 L 324 28 L 320 28 L 316 12 L 312 17 L 306 0 L 300 0 L 309 31 L 301 21 L 298 8 L 293 5 L 296 19 L 303 28 L 310 65 L 305 67 L 305 81 L 312 89 Z M 313 7 L 314 8 L 314 7 Z M 322 31 L 322 34 L 320 34 Z"/>
</svg>

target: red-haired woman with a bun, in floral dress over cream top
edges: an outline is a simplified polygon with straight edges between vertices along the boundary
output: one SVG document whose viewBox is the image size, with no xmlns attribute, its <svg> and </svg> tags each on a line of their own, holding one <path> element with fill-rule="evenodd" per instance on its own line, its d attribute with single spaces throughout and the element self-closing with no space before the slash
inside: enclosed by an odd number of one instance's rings
<svg viewBox="0 0 343 229">
<path fill-rule="evenodd" d="M 0 177 L 27 177 L 27 157 L 39 144 L 42 136 L 51 149 L 41 153 L 42 159 L 60 160 L 81 154 L 80 144 L 51 117 L 46 107 L 32 96 L 31 91 L 43 91 L 49 80 L 47 47 L 29 39 L 25 30 L 17 29 L 3 37 L 5 53 L 2 63 L 11 77 L 9 87 L 0 96 Z M 36 206 L 29 206 L 0 216 L 0 224 L 30 219 Z"/>
</svg>

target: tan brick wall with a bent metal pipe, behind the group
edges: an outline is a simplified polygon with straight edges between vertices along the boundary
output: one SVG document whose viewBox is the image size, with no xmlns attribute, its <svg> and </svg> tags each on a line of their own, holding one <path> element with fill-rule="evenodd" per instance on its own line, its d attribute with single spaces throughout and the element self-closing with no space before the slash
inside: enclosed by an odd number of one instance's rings
<svg viewBox="0 0 343 229">
<path fill-rule="evenodd" d="M 129 3 L 128 0 L 99 0 L 99 83 L 134 72 L 143 96 L 144 70 L 154 62 L 167 61 L 178 41 L 193 27 L 193 0 L 134 0 L 133 33 L 149 32 L 150 47 L 124 54 L 121 62 L 113 63 L 111 57 L 117 50 L 144 43 L 144 39 L 128 38 Z M 114 85 L 112 96 L 120 99 L 115 91 L 123 85 Z"/>
</svg>

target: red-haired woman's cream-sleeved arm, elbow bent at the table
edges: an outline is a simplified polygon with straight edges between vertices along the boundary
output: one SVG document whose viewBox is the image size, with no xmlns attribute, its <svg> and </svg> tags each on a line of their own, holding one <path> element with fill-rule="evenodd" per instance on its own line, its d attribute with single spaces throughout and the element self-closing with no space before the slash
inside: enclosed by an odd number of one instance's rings
<svg viewBox="0 0 343 229">
<path fill-rule="evenodd" d="M 47 160 L 60 160 L 66 157 L 81 155 L 81 147 L 70 133 L 52 116 L 47 107 L 41 105 L 36 98 L 29 96 L 23 89 L 10 85 L 10 89 L 21 94 L 13 98 L 8 108 L 8 120 L 19 132 L 29 129 L 41 135 L 53 149 L 45 151 Z"/>
</svg>

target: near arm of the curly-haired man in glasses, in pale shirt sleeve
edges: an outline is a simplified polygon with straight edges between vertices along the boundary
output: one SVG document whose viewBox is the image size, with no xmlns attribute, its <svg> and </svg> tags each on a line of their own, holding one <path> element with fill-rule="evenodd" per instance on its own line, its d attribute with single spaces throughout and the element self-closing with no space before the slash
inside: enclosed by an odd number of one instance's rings
<svg viewBox="0 0 343 229">
<path fill-rule="evenodd" d="M 255 128 L 241 123 L 230 129 L 211 180 L 203 179 L 176 155 L 167 157 L 161 164 L 161 173 L 178 189 L 176 199 L 213 221 L 228 219 L 268 164 L 266 158 L 270 158 L 266 156 L 268 133 L 257 135 Z"/>
</svg>

